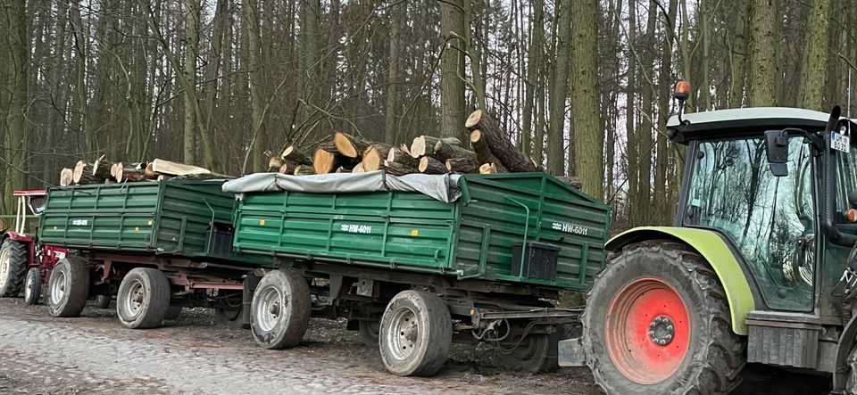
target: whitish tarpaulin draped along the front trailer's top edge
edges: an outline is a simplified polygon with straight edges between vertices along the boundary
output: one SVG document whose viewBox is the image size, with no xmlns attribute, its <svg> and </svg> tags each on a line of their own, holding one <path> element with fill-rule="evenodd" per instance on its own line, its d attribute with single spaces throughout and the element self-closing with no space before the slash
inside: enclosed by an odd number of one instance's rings
<svg viewBox="0 0 857 395">
<path fill-rule="evenodd" d="M 314 176 L 287 176 L 280 173 L 254 173 L 223 183 L 223 192 L 241 193 L 291 191 L 309 193 L 351 193 L 376 191 L 415 191 L 441 202 L 455 202 L 461 196 L 458 174 L 408 174 L 391 176 L 382 170 L 367 173 L 333 173 Z"/>
</svg>

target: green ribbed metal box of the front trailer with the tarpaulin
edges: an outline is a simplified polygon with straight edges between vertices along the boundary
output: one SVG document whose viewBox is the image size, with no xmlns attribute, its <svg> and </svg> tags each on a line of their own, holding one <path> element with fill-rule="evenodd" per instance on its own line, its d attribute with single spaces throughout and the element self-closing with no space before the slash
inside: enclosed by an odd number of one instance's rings
<svg viewBox="0 0 857 395">
<path fill-rule="evenodd" d="M 416 192 L 245 193 L 237 251 L 587 290 L 610 208 L 544 173 L 464 175 L 457 202 Z M 526 207 L 527 209 L 525 209 Z M 527 214 L 529 211 L 529 214 Z M 512 273 L 512 244 L 561 247 L 555 280 Z"/>
</svg>

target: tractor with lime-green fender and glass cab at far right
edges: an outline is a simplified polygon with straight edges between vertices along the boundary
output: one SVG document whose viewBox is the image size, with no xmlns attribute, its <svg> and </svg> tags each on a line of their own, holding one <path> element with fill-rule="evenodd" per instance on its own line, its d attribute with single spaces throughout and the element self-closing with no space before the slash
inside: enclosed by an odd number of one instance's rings
<svg viewBox="0 0 857 395">
<path fill-rule="evenodd" d="M 561 365 L 589 366 L 611 394 L 728 393 L 761 370 L 857 393 L 852 131 L 838 107 L 670 119 L 686 145 L 675 226 L 607 244 Z"/>
</svg>

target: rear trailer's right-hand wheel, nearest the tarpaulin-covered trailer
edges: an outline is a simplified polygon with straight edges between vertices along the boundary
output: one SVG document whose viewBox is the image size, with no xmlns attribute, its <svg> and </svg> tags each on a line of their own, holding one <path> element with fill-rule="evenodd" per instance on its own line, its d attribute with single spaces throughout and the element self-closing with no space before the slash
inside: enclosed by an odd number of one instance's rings
<svg viewBox="0 0 857 395">
<path fill-rule="evenodd" d="M 116 315 L 131 329 L 161 326 L 170 307 L 170 280 L 161 270 L 150 267 L 131 269 L 116 295 Z"/>
</svg>

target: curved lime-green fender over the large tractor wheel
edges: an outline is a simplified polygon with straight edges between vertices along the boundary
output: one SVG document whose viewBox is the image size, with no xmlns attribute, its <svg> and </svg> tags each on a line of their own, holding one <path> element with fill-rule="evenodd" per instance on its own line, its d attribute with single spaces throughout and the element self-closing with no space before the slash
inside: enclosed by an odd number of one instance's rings
<svg viewBox="0 0 857 395">
<path fill-rule="evenodd" d="M 613 237 L 605 248 L 608 251 L 621 251 L 622 247 L 628 244 L 646 240 L 677 241 L 702 255 L 714 269 L 720 284 L 723 284 L 723 290 L 726 291 L 732 332 L 747 334 L 745 319 L 747 313 L 755 309 L 756 305 L 753 291 L 735 253 L 720 235 L 710 230 L 688 227 L 642 226 Z"/>
</svg>

